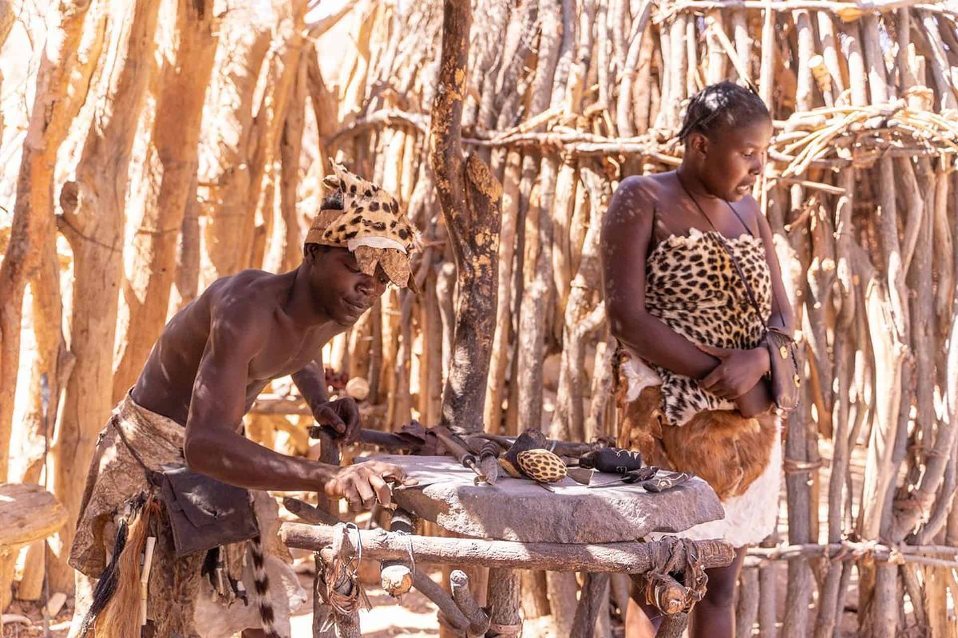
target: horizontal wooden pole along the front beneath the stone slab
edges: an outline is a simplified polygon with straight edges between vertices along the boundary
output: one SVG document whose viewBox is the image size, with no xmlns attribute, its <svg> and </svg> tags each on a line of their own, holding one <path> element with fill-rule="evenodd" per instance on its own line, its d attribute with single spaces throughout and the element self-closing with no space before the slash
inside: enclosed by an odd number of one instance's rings
<svg viewBox="0 0 958 638">
<path fill-rule="evenodd" d="M 280 537 L 289 547 L 318 551 L 329 545 L 333 528 L 286 522 Z M 385 530 L 360 530 L 363 556 L 384 561 L 408 556 L 409 541 L 418 561 L 457 565 L 482 565 L 496 568 L 545 569 L 549 571 L 592 571 L 644 573 L 656 557 L 672 549 L 666 542 L 616 542 L 561 544 L 551 542 L 515 542 L 512 540 L 446 539 L 411 535 L 391 535 Z M 345 539 L 352 543 L 352 539 Z M 698 555 L 705 568 L 732 561 L 734 552 L 723 540 L 696 541 Z M 675 550 L 681 552 L 682 550 Z M 684 566 L 684 554 L 676 569 Z"/>
</svg>

